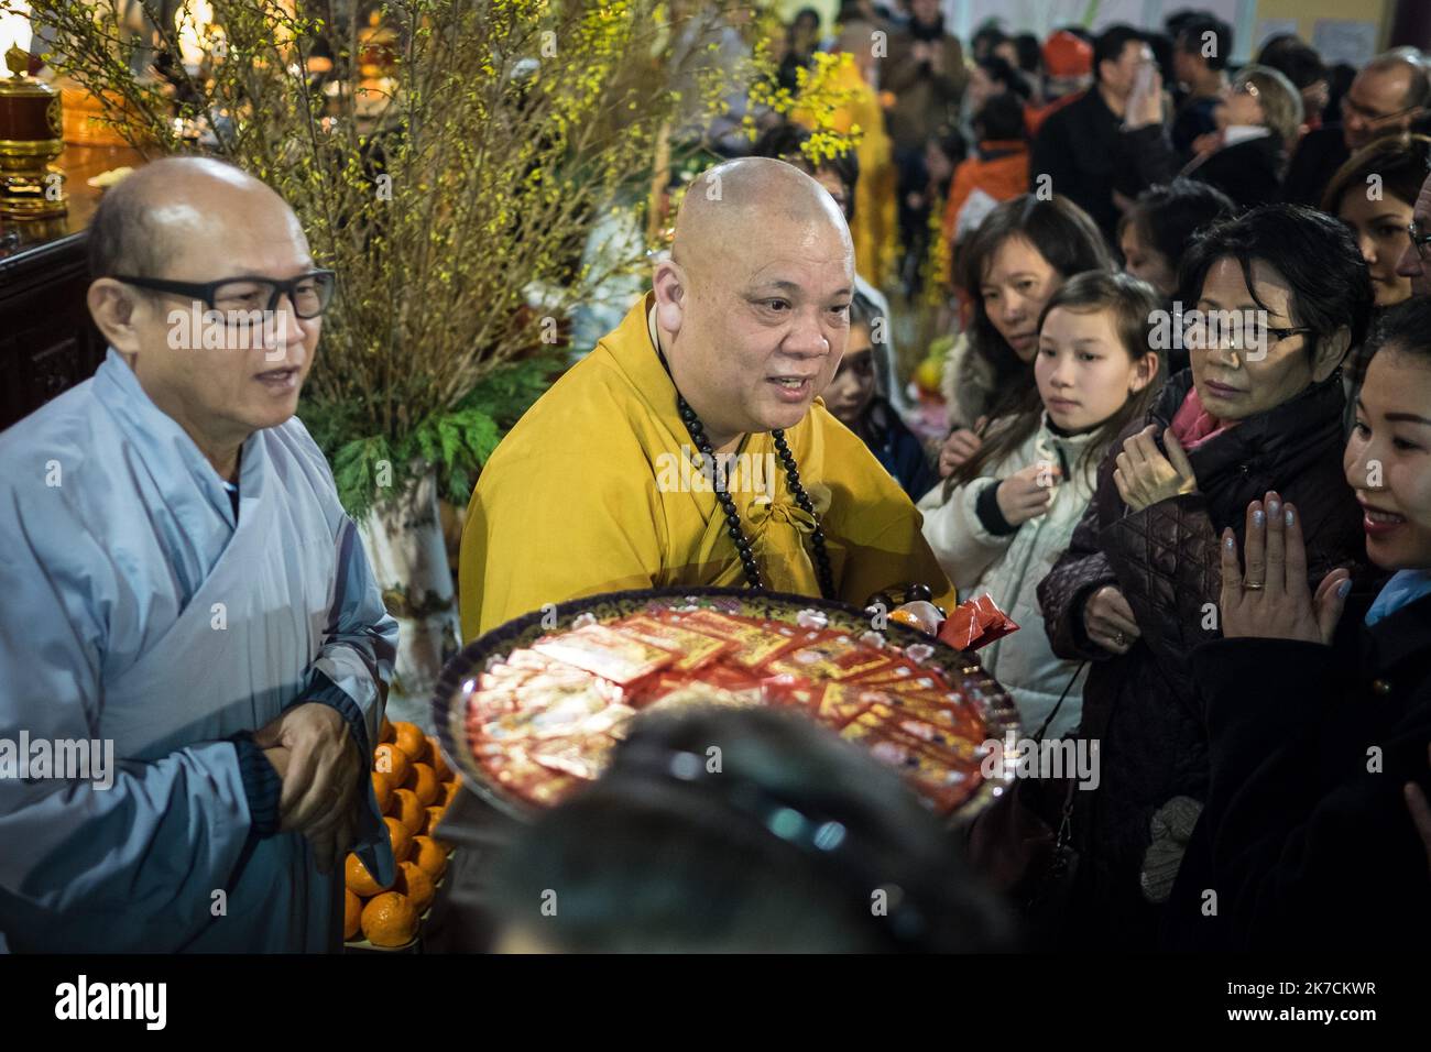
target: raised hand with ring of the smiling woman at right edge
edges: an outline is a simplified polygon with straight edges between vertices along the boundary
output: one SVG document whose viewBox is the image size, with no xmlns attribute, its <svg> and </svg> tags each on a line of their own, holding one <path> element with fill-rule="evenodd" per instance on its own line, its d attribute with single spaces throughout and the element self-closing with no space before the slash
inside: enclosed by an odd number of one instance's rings
<svg viewBox="0 0 1431 1052">
<path fill-rule="evenodd" d="M 1239 564 L 1236 535 L 1222 531 L 1222 635 L 1331 643 L 1349 571 L 1332 570 L 1312 595 L 1301 515 L 1275 491 L 1248 505 L 1245 537 Z"/>
</svg>

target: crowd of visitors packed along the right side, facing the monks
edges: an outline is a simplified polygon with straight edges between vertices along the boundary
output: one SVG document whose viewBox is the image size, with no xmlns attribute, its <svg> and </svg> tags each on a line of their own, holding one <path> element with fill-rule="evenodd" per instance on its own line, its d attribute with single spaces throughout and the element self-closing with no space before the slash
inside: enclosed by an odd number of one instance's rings
<svg viewBox="0 0 1431 1052">
<path fill-rule="evenodd" d="M 897 210 L 897 243 L 856 252 L 826 408 L 917 502 L 957 594 L 1025 625 L 980 653 L 1025 726 L 1100 750 L 1096 790 L 1049 779 L 1005 803 L 1080 859 L 1058 912 L 1030 907 L 1047 856 L 1010 875 L 1003 816 L 970 836 L 1003 856 L 986 872 L 1026 937 L 1425 930 L 1431 64 L 1329 66 L 1292 34 L 1236 63 L 1231 26 L 1196 10 L 967 49 L 932 0 L 839 23 L 827 50 L 887 39 L 860 63 L 884 155 L 813 165 L 777 120 L 748 153 L 814 176 L 857 246 L 876 235 L 853 202 Z M 784 80 L 820 39 L 801 11 Z M 893 202 L 860 193 L 889 167 Z M 889 305 L 919 291 L 930 238 L 954 342 L 947 437 L 920 449 Z"/>
</svg>

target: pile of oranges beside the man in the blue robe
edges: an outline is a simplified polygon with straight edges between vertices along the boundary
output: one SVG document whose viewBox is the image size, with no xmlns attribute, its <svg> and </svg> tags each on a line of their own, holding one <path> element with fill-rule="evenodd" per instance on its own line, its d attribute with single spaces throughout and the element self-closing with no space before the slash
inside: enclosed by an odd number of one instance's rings
<svg viewBox="0 0 1431 1052">
<path fill-rule="evenodd" d="M 412 723 L 384 717 L 372 756 L 372 790 L 398 860 L 398 879 L 379 885 L 356 854 L 348 856 L 343 939 L 356 939 L 361 932 L 373 946 L 405 946 L 416 937 L 418 917 L 432 905 L 448 862 L 448 846 L 432 833 L 456 787 L 436 739 L 424 737 Z"/>
</svg>

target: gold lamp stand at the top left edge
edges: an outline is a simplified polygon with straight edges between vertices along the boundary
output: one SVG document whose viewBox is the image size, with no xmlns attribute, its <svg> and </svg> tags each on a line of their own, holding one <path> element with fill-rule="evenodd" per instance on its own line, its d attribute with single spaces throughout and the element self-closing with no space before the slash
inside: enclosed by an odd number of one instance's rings
<svg viewBox="0 0 1431 1052">
<path fill-rule="evenodd" d="M 53 219 L 69 210 L 64 173 L 54 167 L 64 149 L 60 93 L 26 76 L 30 56 L 11 47 L 0 77 L 0 216 Z"/>
</svg>

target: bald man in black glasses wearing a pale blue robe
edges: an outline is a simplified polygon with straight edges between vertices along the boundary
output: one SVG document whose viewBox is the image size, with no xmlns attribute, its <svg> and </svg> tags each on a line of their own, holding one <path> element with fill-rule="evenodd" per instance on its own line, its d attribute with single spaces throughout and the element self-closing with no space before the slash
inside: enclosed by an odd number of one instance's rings
<svg viewBox="0 0 1431 1052">
<path fill-rule="evenodd" d="M 363 757 L 396 625 L 293 417 L 333 273 L 195 157 L 90 239 L 107 358 L 0 435 L 0 945 L 336 949 L 345 854 L 392 877 Z M 63 743 L 113 770 L 39 763 Z"/>
</svg>

